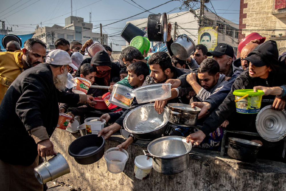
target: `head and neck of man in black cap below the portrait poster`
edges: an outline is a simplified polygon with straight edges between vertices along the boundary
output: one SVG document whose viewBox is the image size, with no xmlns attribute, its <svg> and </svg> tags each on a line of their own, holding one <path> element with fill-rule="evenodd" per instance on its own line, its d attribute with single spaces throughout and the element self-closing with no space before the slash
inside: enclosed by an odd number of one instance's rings
<svg viewBox="0 0 286 191">
<path fill-rule="evenodd" d="M 219 43 L 215 50 L 207 52 L 207 56 L 212 56 L 219 63 L 219 73 L 223 73 L 226 76 L 232 77 L 233 75 L 233 47 L 225 43 Z"/>
</svg>

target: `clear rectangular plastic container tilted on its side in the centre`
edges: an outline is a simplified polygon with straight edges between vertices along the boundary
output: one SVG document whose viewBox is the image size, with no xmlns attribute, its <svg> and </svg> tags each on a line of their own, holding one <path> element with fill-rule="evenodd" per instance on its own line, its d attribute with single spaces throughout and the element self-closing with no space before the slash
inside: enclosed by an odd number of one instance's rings
<svg viewBox="0 0 286 191">
<path fill-rule="evenodd" d="M 133 92 L 138 104 L 164 100 L 171 97 L 171 83 L 144 85 Z"/>
</svg>

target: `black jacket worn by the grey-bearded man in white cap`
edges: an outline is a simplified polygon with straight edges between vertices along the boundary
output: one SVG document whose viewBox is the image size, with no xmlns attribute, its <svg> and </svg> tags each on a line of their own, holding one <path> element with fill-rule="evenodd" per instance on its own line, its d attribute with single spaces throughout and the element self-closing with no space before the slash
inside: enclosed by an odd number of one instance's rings
<svg viewBox="0 0 286 191">
<path fill-rule="evenodd" d="M 38 152 L 28 131 L 44 126 L 51 136 L 59 119 L 58 102 L 78 101 L 78 94 L 56 89 L 47 63 L 25 70 L 10 85 L 0 105 L 0 159 L 31 165 Z"/>
</svg>

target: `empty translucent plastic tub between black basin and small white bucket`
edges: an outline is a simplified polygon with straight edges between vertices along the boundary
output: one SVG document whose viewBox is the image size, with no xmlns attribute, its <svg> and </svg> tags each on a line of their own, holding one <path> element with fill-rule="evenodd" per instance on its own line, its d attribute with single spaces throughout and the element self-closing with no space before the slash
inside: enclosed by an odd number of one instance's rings
<svg viewBox="0 0 286 191">
<path fill-rule="evenodd" d="M 117 174 L 124 170 L 129 155 L 126 150 L 122 149 L 122 151 L 119 151 L 118 147 L 113 147 L 104 153 L 104 158 L 106 160 L 107 170 Z"/>
</svg>

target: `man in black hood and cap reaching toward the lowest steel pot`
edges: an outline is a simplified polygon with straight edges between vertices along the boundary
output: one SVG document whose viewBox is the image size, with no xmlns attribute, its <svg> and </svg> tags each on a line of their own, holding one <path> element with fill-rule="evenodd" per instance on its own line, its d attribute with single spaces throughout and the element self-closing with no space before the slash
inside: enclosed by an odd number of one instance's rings
<svg viewBox="0 0 286 191">
<path fill-rule="evenodd" d="M 196 141 L 200 144 L 206 135 L 213 132 L 226 119 L 229 119 L 230 126 L 235 130 L 257 132 L 255 128 L 257 114 L 237 113 L 233 91 L 236 89 L 253 89 L 253 87 L 259 85 L 266 87 L 281 86 L 286 82 L 285 77 L 283 77 L 283 73 L 285 75 L 285 65 L 279 65 L 277 44 L 272 40 L 258 45 L 245 59 L 249 62 L 248 70 L 245 70 L 237 77 L 223 103 L 204 121 L 201 130 L 187 137 L 187 141 L 192 140 L 192 142 Z M 274 98 L 273 95 L 263 97 L 263 99 Z M 261 108 L 264 106 L 266 105 L 262 103 Z M 232 118 L 229 118 L 230 116 Z M 263 144 L 264 147 L 270 145 L 262 138 L 255 140 L 255 142 Z"/>
</svg>

